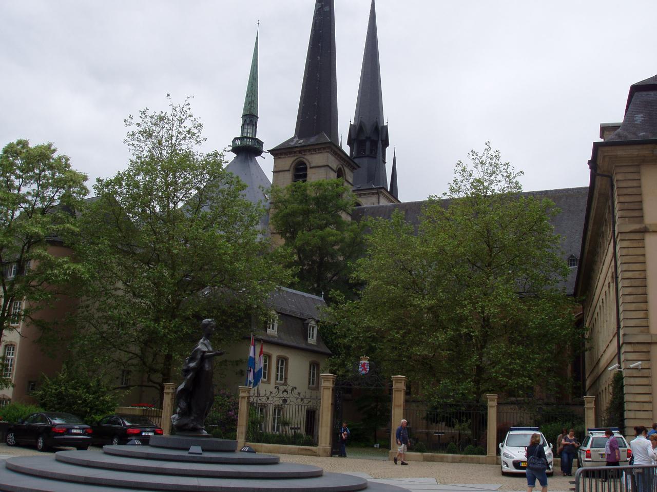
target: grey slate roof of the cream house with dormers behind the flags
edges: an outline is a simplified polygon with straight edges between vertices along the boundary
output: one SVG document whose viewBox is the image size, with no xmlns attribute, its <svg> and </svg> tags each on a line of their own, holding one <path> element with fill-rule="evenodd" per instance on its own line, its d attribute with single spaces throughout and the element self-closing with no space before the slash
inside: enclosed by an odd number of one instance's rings
<svg viewBox="0 0 657 492">
<path fill-rule="evenodd" d="M 306 319 L 320 319 L 320 308 L 326 306 L 326 302 L 321 297 L 317 297 L 305 292 L 295 291 L 286 287 L 278 287 L 271 297 L 269 297 L 269 306 L 281 314 L 294 316 L 303 321 Z M 330 356 L 331 352 L 321 338 L 321 333 L 317 330 L 317 344 L 308 342 L 306 325 L 294 323 L 294 325 L 279 323 L 277 337 L 267 335 L 267 333 L 258 333 L 256 338 L 263 340 L 265 344 L 271 343 L 292 348 L 299 348 L 309 352 L 316 352 Z"/>
</svg>

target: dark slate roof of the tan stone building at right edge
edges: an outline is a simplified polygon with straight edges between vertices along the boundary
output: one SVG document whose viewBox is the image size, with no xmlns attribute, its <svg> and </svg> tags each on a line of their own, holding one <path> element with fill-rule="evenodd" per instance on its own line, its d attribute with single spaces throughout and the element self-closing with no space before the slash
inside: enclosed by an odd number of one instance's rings
<svg viewBox="0 0 657 492">
<path fill-rule="evenodd" d="M 657 75 L 630 86 L 625 117 L 605 142 L 657 138 Z"/>
</svg>

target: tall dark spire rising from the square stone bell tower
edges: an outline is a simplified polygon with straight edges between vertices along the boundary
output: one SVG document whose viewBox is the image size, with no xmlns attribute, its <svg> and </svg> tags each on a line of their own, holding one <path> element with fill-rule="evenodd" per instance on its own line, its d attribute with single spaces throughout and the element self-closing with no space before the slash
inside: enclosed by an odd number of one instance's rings
<svg viewBox="0 0 657 492">
<path fill-rule="evenodd" d="M 338 85 L 333 0 L 316 0 L 296 118 L 298 138 L 325 133 L 338 144 Z"/>
</svg>

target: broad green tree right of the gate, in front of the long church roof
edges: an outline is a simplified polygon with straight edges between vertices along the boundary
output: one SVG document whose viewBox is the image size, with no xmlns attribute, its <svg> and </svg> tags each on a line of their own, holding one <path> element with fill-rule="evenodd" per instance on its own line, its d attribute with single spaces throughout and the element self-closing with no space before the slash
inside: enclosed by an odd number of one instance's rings
<svg viewBox="0 0 657 492">
<path fill-rule="evenodd" d="M 552 392 L 581 340 L 560 288 L 568 269 L 550 224 L 558 211 L 521 194 L 519 173 L 489 144 L 468 157 L 444 199 L 426 203 L 417 231 L 399 213 L 371 224 L 356 272 L 361 300 L 333 308 L 324 336 L 378 359 L 383 373 L 403 367 L 436 401 Z"/>
</svg>

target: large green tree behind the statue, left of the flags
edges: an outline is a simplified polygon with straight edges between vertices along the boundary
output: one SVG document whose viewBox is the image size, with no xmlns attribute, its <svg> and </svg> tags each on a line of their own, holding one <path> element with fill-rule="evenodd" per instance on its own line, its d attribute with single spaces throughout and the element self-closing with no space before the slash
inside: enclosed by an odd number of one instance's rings
<svg viewBox="0 0 657 492">
<path fill-rule="evenodd" d="M 200 338 L 199 319 L 217 321 L 215 344 L 236 338 L 287 276 L 258 230 L 264 210 L 244 199 L 222 154 L 198 150 L 189 100 L 125 124 L 129 165 L 97 181 L 79 220 L 85 302 L 72 344 L 88 367 L 130 369 L 145 375 L 131 386 L 162 392 Z"/>
</svg>

